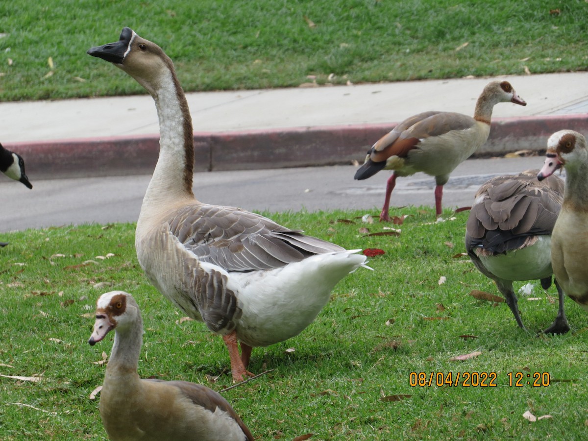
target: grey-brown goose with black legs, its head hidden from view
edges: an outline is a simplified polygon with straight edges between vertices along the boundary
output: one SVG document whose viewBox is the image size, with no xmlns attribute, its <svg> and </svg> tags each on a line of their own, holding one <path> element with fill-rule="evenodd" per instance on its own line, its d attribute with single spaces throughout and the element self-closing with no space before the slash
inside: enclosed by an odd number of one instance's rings
<svg viewBox="0 0 588 441">
<path fill-rule="evenodd" d="M 515 280 L 552 281 L 551 233 L 562 206 L 563 181 L 537 180 L 538 170 L 496 176 L 477 191 L 466 224 L 466 250 L 476 268 L 496 282 L 515 320 L 524 328 L 513 290 Z M 563 311 L 563 292 L 555 280 L 559 309 L 545 333 L 570 330 Z"/>
</svg>

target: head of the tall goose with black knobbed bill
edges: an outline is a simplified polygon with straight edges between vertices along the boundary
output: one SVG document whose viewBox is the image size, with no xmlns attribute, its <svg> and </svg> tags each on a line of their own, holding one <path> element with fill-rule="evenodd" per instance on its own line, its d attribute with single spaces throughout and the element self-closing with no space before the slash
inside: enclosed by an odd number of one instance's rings
<svg viewBox="0 0 588 441">
<path fill-rule="evenodd" d="M 141 38 L 131 28 L 123 28 L 118 41 L 88 49 L 88 55 L 102 58 L 131 75 L 152 96 L 163 78 L 174 71 L 173 62 L 155 43 Z"/>
</svg>

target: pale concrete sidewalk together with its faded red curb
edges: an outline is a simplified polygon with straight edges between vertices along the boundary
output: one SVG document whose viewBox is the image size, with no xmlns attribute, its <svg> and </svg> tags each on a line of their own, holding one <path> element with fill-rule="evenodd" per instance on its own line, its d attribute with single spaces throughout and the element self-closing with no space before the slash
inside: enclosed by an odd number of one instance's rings
<svg viewBox="0 0 588 441">
<path fill-rule="evenodd" d="M 587 78 L 576 72 L 189 93 L 195 171 L 363 161 L 368 146 L 407 116 L 472 115 L 492 79 L 510 81 L 527 106 L 497 104 L 478 154 L 540 150 L 560 129 L 588 133 Z M 151 173 L 158 157 L 158 119 L 148 95 L 5 102 L 0 113 L 0 142 L 24 156 L 36 179 Z"/>
</svg>

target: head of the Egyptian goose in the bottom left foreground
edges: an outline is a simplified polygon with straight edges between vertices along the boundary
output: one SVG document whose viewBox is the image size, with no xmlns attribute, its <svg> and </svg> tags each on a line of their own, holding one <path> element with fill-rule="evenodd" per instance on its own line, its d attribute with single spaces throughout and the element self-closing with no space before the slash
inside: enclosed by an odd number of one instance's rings
<svg viewBox="0 0 588 441">
<path fill-rule="evenodd" d="M 102 294 L 96 301 L 96 322 L 88 343 L 95 345 L 115 328 L 128 329 L 140 317 L 139 306 L 129 293 L 111 291 Z"/>
</svg>

